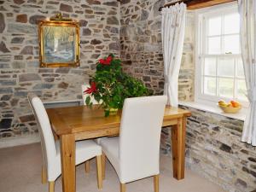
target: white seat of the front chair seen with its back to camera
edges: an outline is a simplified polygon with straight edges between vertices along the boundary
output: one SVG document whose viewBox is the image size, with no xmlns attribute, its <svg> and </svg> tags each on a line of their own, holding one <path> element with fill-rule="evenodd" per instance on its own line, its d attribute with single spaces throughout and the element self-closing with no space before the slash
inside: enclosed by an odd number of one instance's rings
<svg viewBox="0 0 256 192">
<path fill-rule="evenodd" d="M 115 171 L 119 175 L 119 137 L 106 137 L 101 139 L 102 151 L 108 157 Z"/>
</svg>

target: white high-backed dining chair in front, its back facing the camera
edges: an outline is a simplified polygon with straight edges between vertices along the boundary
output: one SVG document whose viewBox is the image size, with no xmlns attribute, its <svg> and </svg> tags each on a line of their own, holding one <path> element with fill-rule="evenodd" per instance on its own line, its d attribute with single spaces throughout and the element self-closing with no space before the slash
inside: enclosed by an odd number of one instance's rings
<svg viewBox="0 0 256 192">
<path fill-rule="evenodd" d="M 166 101 L 166 96 L 125 99 L 119 137 L 101 141 L 102 177 L 107 156 L 118 174 L 121 192 L 125 192 L 125 183 L 151 176 L 154 191 L 159 191 L 160 131 Z"/>
</svg>

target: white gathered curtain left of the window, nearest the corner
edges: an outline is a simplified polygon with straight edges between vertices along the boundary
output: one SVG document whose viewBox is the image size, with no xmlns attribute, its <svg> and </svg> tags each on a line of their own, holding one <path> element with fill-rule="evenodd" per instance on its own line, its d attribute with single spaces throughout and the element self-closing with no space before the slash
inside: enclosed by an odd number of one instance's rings
<svg viewBox="0 0 256 192">
<path fill-rule="evenodd" d="M 162 9 L 162 44 L 164 56 L 165 95 L 168 105 L 177 107 L 178 73 L 183 54 L 186 5 L 177 3 Z"/>
</svg>

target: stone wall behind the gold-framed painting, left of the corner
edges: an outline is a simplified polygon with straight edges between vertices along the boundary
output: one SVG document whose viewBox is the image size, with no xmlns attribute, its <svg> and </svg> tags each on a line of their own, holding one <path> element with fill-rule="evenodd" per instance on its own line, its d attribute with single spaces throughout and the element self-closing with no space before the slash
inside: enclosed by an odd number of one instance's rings
<svg viewBox="0 0 256 192">
<path fill-rule="evenodd" d="M 44 101 L 81 99 L 96 60 L 119 55 L 119 8 L 116 0 L 0 1 L 0 139 L 37 132 L 28 92 Z M 38 20 L 57 13 L 80 22 L 80 67 L 39 67 Z"/>
</svg>

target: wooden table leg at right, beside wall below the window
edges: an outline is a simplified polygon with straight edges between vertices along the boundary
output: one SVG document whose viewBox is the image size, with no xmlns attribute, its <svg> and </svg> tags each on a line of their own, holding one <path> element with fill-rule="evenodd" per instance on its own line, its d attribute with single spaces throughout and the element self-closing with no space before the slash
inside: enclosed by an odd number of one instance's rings
<svg viewBox="0 0 256 192">
<path fill-rule="evenodd" d="M 186 119 L 179 118 L 177 125 L 172 126 L 172 168 L 177 180 L 184 178 Z"/>
</svg>

